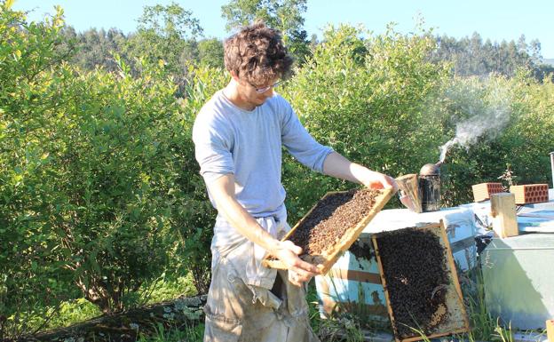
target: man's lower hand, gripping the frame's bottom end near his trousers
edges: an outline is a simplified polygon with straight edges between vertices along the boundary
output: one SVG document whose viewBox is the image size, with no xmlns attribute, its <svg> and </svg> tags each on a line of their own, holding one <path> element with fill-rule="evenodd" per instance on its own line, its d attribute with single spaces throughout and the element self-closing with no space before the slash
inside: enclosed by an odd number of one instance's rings
<svg viewBox="0 0 554 342">
<path fill-rule="evenodd" d="M 272 251 L 273 257 L 279 258 L 287 266 L 289 281 L 296 286 L 302 286 L 303 282 L 309 282 L 314 275 L 320 274 L 316 266 L 298 258 L 300 253 L 302 253 L 302 248 L 289 240 L 278 242 Z"/>
</svg>

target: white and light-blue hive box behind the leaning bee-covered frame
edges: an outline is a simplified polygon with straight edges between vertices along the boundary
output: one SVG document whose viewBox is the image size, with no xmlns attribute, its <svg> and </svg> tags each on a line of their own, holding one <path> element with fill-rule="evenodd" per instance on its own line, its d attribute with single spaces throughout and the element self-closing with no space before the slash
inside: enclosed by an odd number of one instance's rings
<svg viewBox="0 0 554 342">
<path fill-rule="evenodd" d="M 489 210 L 490 211 L 490 210 Z M 420 225 L 420 222 L 439 222 L 446 227 L 448 243 L 456 269 L 464 272 L 477 265 L 477 246 L 474 213 L 467 208 L 449 208 L 421 214 L 408 209 L 379 211 L 358 240 L 345 251 L 327 274 L 314 277 L 322 318 L 336 313 L 348 313 L 381 327 L 390 328 L 384 298 L 383 283 L 377 266 L 372 237 L 385 231 Z"/>
</svg>

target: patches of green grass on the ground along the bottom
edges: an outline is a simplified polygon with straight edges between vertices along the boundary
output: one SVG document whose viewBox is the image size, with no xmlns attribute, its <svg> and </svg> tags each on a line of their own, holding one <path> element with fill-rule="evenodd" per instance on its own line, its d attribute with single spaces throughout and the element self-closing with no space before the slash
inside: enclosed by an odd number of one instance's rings
<svg viewBox="0 0 554 342">
<path fill-rule="evenodd" d="M 513 331 L 510 326 L 503 327 L 495 317 L 487 312 L 483 277 L 479 268 L 475 268 L 471 273 L 460 274 L 460 279 L 463 280 L 463 296 L 470 319 L 471 331 L 467 334 L 457 335 L 455 338 L 470 342 L 513 342 Z M 147 293 L 143 296 L 143 298 L 146 298 L 146 304 L 151 304 L 177 298 L 181 295 L 194 296 L 196 291 L 191 276 L 187 275 L 175 280 L 162 279 L 151 287 L 145 288 L 143 293 Z M 321 340 L 328 342 L 361 342 L 364 340 L 364 331 L 383 330 L 382 322 L 380 324 L 371 322 L 368 317 L 362 319 L 360 315 L 348 313 L 347 310 L 343 310 L 345 311 L 343 314 L 337 314 L 333 319 L 322 319 L 314 282 L 311 282 L 308 287 L 306 299 L 310 307 L 309 314 L 313 330 L 321 337 Z M 353 311 L 355 311 L 355 307 Z M 68 326 L 76 322 L 83 322 L 99 314 L 101 313 L 96 306 L 83 298 L 79 298 L 62 303 L 58 312 L 52 316 L 46 326 L 47 329 Z M 36 318 L 33 324 L 43 322 L 44 319 Z M 147 329 L 140 330 L 139 327 L 137 329 L 139 330 L 139 338 L 137 339 L 139 342 L 195 342 L 202 341 L 204 325 L 200 323 L 190 326 L 172 326 L 168 322 L 157 322 Z M 423 337 L 422 330 L 416 327 L 412 329 Z M 428 338 L 423 337 L 423 341 L 428 340 Z"/>
</svg>

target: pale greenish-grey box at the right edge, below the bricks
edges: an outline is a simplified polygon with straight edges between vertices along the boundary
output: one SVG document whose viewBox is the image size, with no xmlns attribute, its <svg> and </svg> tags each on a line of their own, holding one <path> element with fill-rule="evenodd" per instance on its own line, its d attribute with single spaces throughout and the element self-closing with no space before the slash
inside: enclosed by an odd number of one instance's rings
<svg viewBox="0 0 554 342">
<path fill-rule="evenodd" d="M 519 330 L 545 329 L 554 317 L 554 235 L 493 239 L 481 256 L 485 302 Z"/>
</svg>

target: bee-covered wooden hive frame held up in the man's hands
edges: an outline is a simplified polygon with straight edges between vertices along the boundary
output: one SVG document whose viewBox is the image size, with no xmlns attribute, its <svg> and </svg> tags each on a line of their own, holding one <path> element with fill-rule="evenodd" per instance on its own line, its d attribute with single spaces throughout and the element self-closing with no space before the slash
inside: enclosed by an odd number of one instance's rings
<svg viewBox="0 0 554 342">
<path fill-rule="evenodd" d="M 325 274 L 341 253 L 347 251 L 356 241 L 364 227 L 383 209 L 394 193 L 392 188 L 330 192 L 290 229 L 282 241 L 290 240 L 302 247 L 303 254 L 300 258 L 318 266 L 320 272 Z M 368 201 L 359 202 L 359 196 L 368 195 L 371 197 Z M 345 219 L 347 215 L 344 214 L 348 212 L 352 215 Z M 265 256 L 262 264 L 266 267 L 286 268 L 281 260 L 269 255 Z"/>
</svg>

